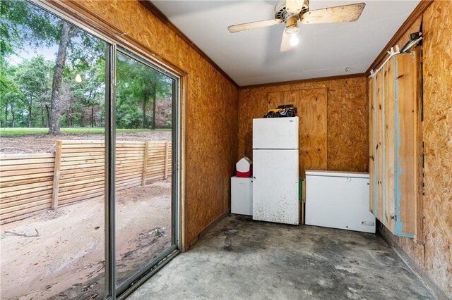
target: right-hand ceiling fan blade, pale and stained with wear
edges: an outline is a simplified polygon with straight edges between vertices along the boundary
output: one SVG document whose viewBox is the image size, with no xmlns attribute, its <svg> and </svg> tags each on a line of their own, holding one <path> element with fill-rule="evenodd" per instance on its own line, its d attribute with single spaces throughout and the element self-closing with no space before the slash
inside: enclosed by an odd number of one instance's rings
<svg viewBox="0 0 452 300">
<path fill-rule="evenodd" d="M 307 11 L 301 18 L 304 24 L 355 22 L 359 19 L 365 3 L 328 7 Z"/>
</svg>

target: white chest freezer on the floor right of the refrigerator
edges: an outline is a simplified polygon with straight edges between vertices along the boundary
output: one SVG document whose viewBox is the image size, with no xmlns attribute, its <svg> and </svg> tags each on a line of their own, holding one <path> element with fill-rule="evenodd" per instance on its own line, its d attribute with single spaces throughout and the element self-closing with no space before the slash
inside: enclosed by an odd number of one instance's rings
<svg viewBox="0 0 452 300">
<path fill-rule="evenodd" d="M 375 233 L 369 174 L 306 170 L 306 225 Z"/>
</svg>

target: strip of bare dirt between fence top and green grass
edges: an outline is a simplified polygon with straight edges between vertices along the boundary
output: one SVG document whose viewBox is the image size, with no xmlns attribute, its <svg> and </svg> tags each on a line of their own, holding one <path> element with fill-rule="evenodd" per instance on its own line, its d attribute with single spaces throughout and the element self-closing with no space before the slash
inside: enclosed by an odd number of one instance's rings
<svg viewBox="0 0 452 300">
<path fill-rule="evenodd" d="M 61 135 L 2 135 L 0 154 L 51 153 L 55 150 L 57 139 L 104 139 L 102 134 L 80 133 Z M 170 141 L 171 131 L 117 133 L 119 141 Z"/>
</svg>

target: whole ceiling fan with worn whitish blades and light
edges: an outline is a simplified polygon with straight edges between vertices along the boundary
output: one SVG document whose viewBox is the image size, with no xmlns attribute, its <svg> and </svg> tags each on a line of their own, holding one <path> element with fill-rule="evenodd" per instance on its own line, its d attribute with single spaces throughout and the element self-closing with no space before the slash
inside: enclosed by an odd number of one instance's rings
<svg viewBox="0 0 452 300">
<path fill-rule="evenodd" d="M 335 6 L 309 11 L 309 0 L 280 0 L 275 6 L 275 18 L 227 27 L 229 32 L 239 32 L 285 23 L 280 51 L 289 51 L 298 44 L 298 21 L 304 24 L 343 23 L 358 20 L 365 3 Z"/>
</svg>

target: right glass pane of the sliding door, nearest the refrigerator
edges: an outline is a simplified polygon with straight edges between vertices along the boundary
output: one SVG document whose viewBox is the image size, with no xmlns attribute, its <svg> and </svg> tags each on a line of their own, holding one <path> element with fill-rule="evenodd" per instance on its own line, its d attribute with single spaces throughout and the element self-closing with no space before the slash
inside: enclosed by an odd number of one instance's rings
<svg viewBox="0 0 452 300">
<path fill-rule="evenodd" d="M 176 245 L 176 80 L 126 51 L 117 51 L 116 69 L 116 277 L 124 289 Z"/>
</svg>

